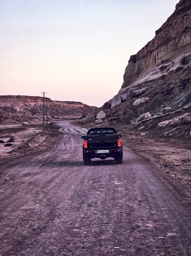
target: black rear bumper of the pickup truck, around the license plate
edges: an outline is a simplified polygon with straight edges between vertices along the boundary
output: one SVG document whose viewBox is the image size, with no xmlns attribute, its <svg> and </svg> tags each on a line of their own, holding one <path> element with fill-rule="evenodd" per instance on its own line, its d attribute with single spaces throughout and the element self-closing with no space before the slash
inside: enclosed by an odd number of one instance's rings
<svg viewBox="0 0 191 256">
<path fill-rule="evenodd" d="M 103 157 L 104 158 L 107 158 L 107 157 L 121 158 L 122 147 L 109 149 L 108 153 L 97 153 L 97 150 L 100 150 L 100 149 L 84 149 L 83 147 L 83 159 L 84 159 L 84 156 L 89 158 L 103 158 Z M 106 149 L 102 149 L 102 150 L 106 150 Z"/>
</svg>

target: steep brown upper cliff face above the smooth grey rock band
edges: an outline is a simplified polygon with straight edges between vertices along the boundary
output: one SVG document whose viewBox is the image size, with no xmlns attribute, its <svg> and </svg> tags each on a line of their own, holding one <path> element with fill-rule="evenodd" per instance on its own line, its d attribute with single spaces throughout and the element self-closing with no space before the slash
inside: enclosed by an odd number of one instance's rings
<svg viewBox="0 0 191 256">
<path fill-rule="evenodd" d="M 122 88 L 134 83 L 153 66 L 165 64 L 170 57 L 180 56 L 181 51 L 186 53 L 190 48 L 190 16 L 190 0 L 181 0 L 175 12 L 155 31 L 155 37 L 130 57 Z"/>
</svg>

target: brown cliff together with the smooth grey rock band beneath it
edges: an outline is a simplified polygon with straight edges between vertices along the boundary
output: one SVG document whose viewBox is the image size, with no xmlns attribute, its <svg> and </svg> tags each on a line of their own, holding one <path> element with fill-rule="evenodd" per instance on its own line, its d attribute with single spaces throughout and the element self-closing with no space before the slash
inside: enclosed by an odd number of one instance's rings
<svg viewBox="0 0 191 256">
<path fill-rule="evenodd" d="M 155 31 L 155 37 L 136 55 L 125 69 L 124 82 L 103 106 L 110 109 L 132 97 L 139 97 L 159 81 L 183 69 L 191 70 L 191 1 L 181 0 L 175 12 Z"/>
</svg>

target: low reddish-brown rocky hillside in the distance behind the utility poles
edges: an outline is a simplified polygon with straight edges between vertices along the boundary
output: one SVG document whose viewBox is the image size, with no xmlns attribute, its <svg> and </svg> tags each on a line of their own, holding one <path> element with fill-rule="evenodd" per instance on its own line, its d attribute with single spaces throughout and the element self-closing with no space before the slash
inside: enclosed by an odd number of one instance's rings
<svg viewBox="0 0 191 256">
<path fill-rule="evenodd" d="M 46 109 L 46 98 L 45 98 Z M 81 102 L 52 101 L 47 98 L 48 119 L 74 119 L 87 115 L 94 107 Z M 13 124 L 42 120 L 43 97 L 0 96 L 0 123 Z"/>
</svg>

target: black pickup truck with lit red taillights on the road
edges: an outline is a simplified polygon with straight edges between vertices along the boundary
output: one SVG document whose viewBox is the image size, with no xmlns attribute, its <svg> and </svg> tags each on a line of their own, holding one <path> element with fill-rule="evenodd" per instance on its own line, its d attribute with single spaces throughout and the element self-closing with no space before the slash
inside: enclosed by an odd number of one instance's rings
<svg viewBox="0 0 191 256">
<path fill-rule="evenodd" d="M 121 134 L 118 134 L 113 127 L 91 128 L 87 131 L 87 135 L 81 138 L 84 140 L 84 165 L 89 165 L 92 158 L 107 157 L 113 157 L 117 164 L 122 164 Z"/>
</svg>

